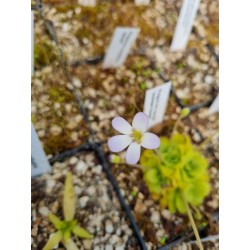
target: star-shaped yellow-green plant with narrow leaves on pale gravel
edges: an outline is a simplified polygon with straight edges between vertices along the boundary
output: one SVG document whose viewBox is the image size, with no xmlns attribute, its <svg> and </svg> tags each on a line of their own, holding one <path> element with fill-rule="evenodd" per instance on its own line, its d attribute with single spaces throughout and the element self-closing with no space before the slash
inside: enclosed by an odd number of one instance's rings
<svg viewBox="0 0 250 250">
<path fill-rule="evenodd" d="M 71 234 L 75 234 L 78 237 L 85 239 L 93 238 L 93 235 L 91 235 L 84 228 L 78 226 L 77 221 L 74 220 L 75 203 L 76 198 L 74 187 L 72 184 L 72 174 L 68 173 L 65 180 L 63 196 L 63 214 L 65 220 L 60 220 L 56 215 L 52 213 L 49 214 L 50 221 L 58 231 L 50 236 L 50 239 L 44 246 L 43 250 L 51 250 L 59 242 L 62 242 L 67 250 L 78 250 L 77 245 L 71 239 Z"/>
</svg>

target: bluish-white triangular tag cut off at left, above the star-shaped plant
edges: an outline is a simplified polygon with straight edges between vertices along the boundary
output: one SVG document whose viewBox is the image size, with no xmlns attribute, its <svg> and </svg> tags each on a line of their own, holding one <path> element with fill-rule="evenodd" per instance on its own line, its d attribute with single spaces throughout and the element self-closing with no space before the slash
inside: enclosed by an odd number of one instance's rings
<svg viewBox="0 0 250 250">
<path fill-rule="evenodd" d="M 37 176 L 51 170 L 49 161 L 39 141 L 36 130 L 31 124 L 31 176 Z"/>
</svg>

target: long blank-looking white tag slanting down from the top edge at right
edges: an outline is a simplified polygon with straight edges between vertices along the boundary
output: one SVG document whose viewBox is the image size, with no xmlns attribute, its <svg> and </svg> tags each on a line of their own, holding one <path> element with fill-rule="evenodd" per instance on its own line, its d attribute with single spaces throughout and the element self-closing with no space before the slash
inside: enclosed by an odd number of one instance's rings
<svg viewBox="0 0 250 250">
<path fill-rule="evenodd" d="M 184 0 L 175 27 L 170 51 L 178 51 L 186 48 L 193 22 L 199 8 L 199 3 L 200 0 Z"/>
</svg>

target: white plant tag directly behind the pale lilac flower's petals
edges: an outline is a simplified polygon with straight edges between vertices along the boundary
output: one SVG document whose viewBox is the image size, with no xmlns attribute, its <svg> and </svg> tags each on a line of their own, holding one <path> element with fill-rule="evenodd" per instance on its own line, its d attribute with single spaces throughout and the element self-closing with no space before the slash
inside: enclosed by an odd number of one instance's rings
<svg viewBox="0 0 250 250">
<path fill-rule="evenodd" d="M 149 116 L 149 127 L 153 127 L 163 121 L 171 85 L 171 82 L 167 82 L 146 91 L 144 113 Z"/>
</svg>

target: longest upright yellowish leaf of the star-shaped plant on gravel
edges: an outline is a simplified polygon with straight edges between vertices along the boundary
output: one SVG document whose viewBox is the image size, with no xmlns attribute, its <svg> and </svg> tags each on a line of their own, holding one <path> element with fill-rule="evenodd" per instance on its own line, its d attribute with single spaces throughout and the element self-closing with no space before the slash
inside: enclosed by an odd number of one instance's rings
<svg viewBox="0 0 250 250">
<path fill-rule="evenodd" d="M 69 221 L 74 218 L 75 203 L 76 199 L 72 183 L 72 173 L 68 172 L 65 180 L 64 196 L 63 196 L 63 213 L 65 220 Z"/>
</svg>

